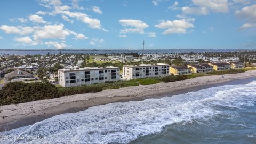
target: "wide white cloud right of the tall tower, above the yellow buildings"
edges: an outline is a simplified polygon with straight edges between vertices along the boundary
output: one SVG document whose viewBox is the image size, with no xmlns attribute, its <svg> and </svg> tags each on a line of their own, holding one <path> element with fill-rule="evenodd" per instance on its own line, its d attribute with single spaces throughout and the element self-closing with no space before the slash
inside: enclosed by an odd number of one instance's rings
<svg viewBox="0 0 256 144">
<path fill-rule="evenodd" d="M 195 21 L 194 18 L 190 19 L 180 19 L 180 20 L 173 20 L 173 21 L 160 21 L 158 25 L 155 25 L 157 28 L 166 29 L 163 31 L 162 34 L 186 34 L 188 28 L 193 28 L 193 22 Z"/>
</svg>

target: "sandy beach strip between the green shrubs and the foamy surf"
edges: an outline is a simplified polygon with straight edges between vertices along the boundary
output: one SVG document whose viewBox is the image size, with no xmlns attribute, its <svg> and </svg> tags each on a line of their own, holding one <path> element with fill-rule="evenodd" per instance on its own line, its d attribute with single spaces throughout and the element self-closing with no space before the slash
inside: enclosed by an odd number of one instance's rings
<svg viewBox="0 0 256 144">
<path fill-rule="evenodd" d="M 184 81 L 124 87 L 97 93 L 76 94 L 55 99 L 0 106 L 0 131 L 31 125 L 63 113 L 86 110 L 91 106 L 113 102 L 139 101 L 147 98 L 162 98 L 167 93 L 170 96 L 198 91 L 206 87 L 225 85 L 233 80 L 255 77 L 256 70 L 223 76 L 225 78 L 221 78 L 222 75 L 203 76 Z"/>
</svg>

